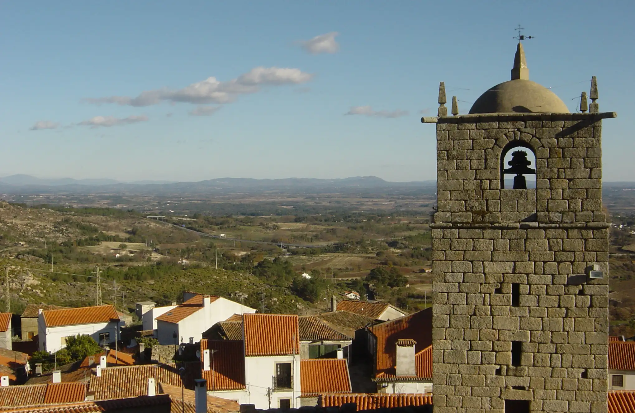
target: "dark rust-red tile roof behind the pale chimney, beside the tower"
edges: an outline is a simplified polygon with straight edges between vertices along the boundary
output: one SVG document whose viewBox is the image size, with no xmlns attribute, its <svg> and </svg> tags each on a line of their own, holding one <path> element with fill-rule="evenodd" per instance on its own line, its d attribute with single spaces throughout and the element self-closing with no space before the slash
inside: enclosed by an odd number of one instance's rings
<svg viewBox="0 0 635 413">
<path fill-rule="evenodd" d="M 432 308 L 374 325 L 370 332 L 377 337 L 375 373 L 394 374 L 399 339 L 416 341 L 417 352 L 432 345 Z"/>
</svg>

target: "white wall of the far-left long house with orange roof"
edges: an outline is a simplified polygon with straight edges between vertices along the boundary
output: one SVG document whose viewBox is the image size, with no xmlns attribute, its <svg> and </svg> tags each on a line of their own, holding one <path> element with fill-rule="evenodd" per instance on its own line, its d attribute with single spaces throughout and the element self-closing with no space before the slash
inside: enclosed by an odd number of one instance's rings
<svg viewBox="0 0 635 413">
<path fill-rule="evenodd" d="M 44 325 L 44 317 L 39 316 L 37 320 L 37 331 L 39 338 L 39 349 L 42 351 L 49 351 L 51 353 L 58 351 L 65 347 L 62 344 L 62 337 L 68 337 L 69 335 L 90 335 L 93 340 L 99 343 L 100 333 L 109 333 L 110 341 L 114 341 L 116 332 L 124 326 L 124 322 L 109 322 L 109 323 L 92 323 L 92 324 L 80 324 L 80 325 L 64 325 L 61 327 L 46 327 Z"/>
</svg>

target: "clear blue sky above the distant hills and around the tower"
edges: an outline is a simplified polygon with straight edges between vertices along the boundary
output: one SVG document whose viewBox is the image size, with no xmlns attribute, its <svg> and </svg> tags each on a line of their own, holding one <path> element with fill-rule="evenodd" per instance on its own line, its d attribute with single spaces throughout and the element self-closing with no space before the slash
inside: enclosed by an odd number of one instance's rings
<svg viewBox="0 0 635 413">
<path fill-rule="evenodd" d="M 0 175 L 434 179 L 422 111 L 439 81 L 466 113 L 508 80 L 521 24 L 530 78 L 571 111 L 598 76 L 618 112 L 604 179 L 635 181 L 633 17 L 632 1 L 7 0 Z"/>
</svg>

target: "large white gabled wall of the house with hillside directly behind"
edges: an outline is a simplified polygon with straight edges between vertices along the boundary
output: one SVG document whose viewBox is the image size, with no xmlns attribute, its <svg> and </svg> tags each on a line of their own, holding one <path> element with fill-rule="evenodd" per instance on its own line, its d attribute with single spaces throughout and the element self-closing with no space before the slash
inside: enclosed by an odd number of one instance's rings
<svg viewBox="0 0 635 413">
<path fill-rule="evenodd" d="M 234 314 L 255 313 L 256 310 L 247 306 L 241 306 L 239 302 L 234 302 L 223 297 L 214 302 L 210 302 L 207 307 L 203 307 L 187 316 L 180 322 L 178 327 L 174 323 L 157 321 L 157 339 L 159 344 L 174 344 L 173 332 L 177 332 L 177 344 L 189 342 L 190 337 L 194 337 L 194 342 L 201 341 L 203 332 L 218 322 L 227 320 Z M 171 326 L 170 326 L 171 325 Z M 163 330 L 163 331 L 162 331 Z"/>
</svg>

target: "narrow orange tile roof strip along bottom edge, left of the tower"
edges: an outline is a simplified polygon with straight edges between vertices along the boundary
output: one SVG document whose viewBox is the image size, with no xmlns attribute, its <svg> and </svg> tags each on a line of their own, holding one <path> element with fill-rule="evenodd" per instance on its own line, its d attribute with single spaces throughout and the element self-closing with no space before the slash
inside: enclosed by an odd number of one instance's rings
<svg viewBox="0 0 635 413">
<path fill-rule="evenodd" d="M 375 410 L 382 407 L 407 407 L 432 404 L 432 394 L 364 394 L 323 395 L 318 400 L 321 407 L 356 403 L 357 410 Z"/>
</svg>

